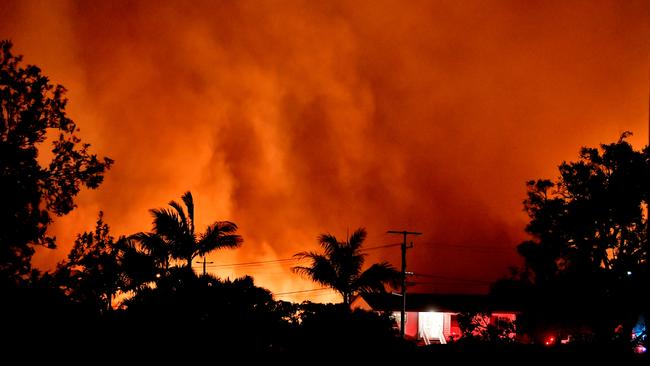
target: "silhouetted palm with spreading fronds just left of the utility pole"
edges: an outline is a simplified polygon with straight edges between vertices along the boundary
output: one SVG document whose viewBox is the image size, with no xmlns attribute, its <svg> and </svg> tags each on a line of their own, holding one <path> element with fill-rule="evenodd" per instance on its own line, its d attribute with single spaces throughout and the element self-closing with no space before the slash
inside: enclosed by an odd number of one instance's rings
<svg viewBox="0 0 650 366">
<path fill-rule="evenodd" d="M 366 230 L 359 228 L 347 242 L 340 242 L 331 234 L 321 234 L 318 242 L 324 253 L 297 253 L 294 257 L 307 258 L 311 260 L 311 265 L 296 266 L 292 270 L 335 290 L 341 294 L 346 305 L 350 305 L 352 295 L 356 293 L 384 292 L 385 284 L 396 287 L 400 272 L 388 262 L 375 263 L 365 271 L 361 271 L 365 261 L 365 254 L 361 253 L 361 245 L 366 235 Z"/>
</svg>

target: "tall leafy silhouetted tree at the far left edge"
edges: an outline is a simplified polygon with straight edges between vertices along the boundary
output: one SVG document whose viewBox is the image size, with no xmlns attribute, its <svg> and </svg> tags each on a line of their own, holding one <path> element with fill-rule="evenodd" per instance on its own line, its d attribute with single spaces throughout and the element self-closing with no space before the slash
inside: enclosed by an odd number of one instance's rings
<svg viewBox="0 0 650 366">
<path fill-rule="evenodd" d="M 0 42 L 0 276 L 18 279 L 31 268 L 34 245 L 55 247 L 51 215 L 70 212 L 82 186 L 97 188 L 113 161 L 77 137 L 65 88 L 21 66 L 11 47 Z M 39 156 L 46 139 L 51 153 Z"/>
</svg>

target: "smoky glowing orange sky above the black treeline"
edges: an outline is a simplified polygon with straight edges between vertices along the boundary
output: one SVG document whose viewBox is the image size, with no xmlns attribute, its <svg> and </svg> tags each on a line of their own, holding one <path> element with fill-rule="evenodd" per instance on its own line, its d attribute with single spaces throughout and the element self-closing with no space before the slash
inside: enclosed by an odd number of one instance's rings
<svg viewBox="0 0 650 366">
<path fill-rule="evenodd" d="M 484 291 L 519 264 L 525 181 L 582 145 L 648 136 L 648 1 L 3 1 L 0 37 L 68 89 L 69 114 L 116 163 L 57 219 L 59 249 L 104 210 L 113 233 L 191 190 L 199 226 L 288 258 L 359 226 L 423 231 L 412 291 Z M 399 249 L 369 260 L 399 266 Z M 291 263 L 219 267 L 274 292 Z M 286 299 L 327 293 L 289 295 Z"/>
</svg>

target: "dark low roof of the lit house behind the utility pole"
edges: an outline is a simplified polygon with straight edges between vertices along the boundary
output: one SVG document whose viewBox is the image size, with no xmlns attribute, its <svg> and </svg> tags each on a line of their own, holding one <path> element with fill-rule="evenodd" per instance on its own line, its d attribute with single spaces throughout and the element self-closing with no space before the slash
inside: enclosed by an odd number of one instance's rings
<svg viewBox="0 0 650 366">
<path fill-rule="evenodd" d="M 395 294 L 362 294 L 363 300 L 377 311 L 400 311 L 402 297 Z M 406 295 L 406 311 L 441 312 L 517 312 L 517 306 L 498 301 L 490 295 L 427 294 Z"/>
</svg>

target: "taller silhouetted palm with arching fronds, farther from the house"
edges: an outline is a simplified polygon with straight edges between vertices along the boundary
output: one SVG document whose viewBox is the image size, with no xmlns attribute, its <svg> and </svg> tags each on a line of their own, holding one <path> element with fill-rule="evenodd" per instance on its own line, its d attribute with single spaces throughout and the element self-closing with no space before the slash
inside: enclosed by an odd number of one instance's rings
<svg viewBox="0 0 650 366">
<path fill-rule="evenodd" d="M 192 268 L 192 260 L 216 249 L 237 248 L 243 239 L 235 234 L 237 225 L 230 221 L 215 221 L 204 233 L 195 233 L 194 199 L 191 192 L 181 197 L 185 208 L 176 201 L 169 202 L 171 208 L 151 210 L 153 232 L 169 244 L 171 257 L 185 260 Z"/>
</svg>

